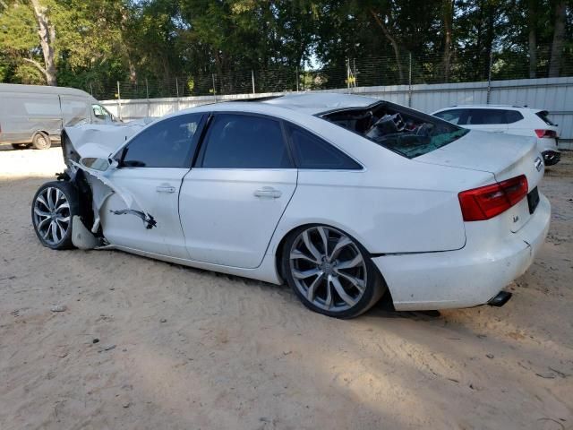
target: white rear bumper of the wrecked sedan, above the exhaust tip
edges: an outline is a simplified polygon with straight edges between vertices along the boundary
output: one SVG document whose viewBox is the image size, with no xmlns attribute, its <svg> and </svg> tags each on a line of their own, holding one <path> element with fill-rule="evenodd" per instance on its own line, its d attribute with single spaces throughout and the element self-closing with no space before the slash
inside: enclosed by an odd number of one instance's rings
<svg viewBox="0 0 573 430">
<path fill-rule="evenodd" d="M 384 276 L 397 310 L 483 305 L 534 261 L 550 217 L 551 205 L 540 194 L 534 215 L 517 233 L 491 241 L 468 237 L 458 251 L 384 255 L 372 261 Z"/>
</svg>

